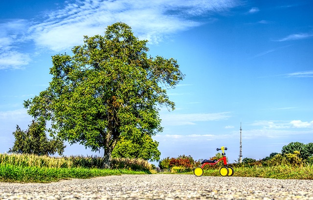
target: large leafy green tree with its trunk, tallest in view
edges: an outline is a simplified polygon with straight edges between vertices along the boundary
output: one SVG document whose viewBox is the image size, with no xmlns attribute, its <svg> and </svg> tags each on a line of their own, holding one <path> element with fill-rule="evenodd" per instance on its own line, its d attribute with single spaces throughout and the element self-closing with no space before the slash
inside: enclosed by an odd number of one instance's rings
<svg viewBox="0 0 313 200">
<path fill-rule="evenodd" d="M 177 61 L 147 56 L 147 41 L 118 22 L 105 35 L 84 37 L 73 55 L 52 57 L 52 81 L 38 96 L 24 102 L 36 120 L 51 121 L 52 135 L 92 151 L 104 149 L 110 167 L 121 136 L 140 141 L 162 131 L 159 106 L 175 109 L 166 88 L 175 88 L 183 74 Z"/>
</svg>

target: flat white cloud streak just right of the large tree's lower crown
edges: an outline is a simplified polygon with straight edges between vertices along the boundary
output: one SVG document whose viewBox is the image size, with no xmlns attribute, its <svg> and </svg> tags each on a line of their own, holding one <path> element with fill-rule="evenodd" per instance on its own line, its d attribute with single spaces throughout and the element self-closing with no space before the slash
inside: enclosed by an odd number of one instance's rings
<svg viewBox="0 0 313 200">
<path fill-rule="evenodd" d="M 164 114 L 161 116 L 162 126 L 195 125 L 195 122 L 226 120 L 231 112 Z"/>
</svg>

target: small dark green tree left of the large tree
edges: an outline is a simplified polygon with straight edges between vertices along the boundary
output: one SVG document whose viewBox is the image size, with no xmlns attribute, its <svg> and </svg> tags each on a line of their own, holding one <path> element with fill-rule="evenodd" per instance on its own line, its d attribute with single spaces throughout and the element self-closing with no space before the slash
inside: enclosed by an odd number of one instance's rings
<svg viewBox="0 0 313 200">
<path fill-rule="evenodd" d="M 58 152 L 62 155 L 64 148 L 63 141 L 60 139 L 48 139 L 45 135 L 45 126 L 32 121 L 28 125 L 28 130 L 22 131 L 19 126 L 13 133 L 15 142 L 8 153 L 17 154 L 35 154 L 35 155 L 53 155 Z"/>
</svg>

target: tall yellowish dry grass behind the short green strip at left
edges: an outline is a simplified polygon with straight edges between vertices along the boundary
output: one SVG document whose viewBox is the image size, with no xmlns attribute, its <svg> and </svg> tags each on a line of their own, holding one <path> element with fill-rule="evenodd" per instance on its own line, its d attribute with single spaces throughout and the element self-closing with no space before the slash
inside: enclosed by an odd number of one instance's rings
<svg viewBox="0 0 313 200">
<path fill-rule="evenodd" d="M 0 154 L 0 165 L 38 168 L 97 168 L 102 169 L 104 159 L 99 156 L 36 156 L 29 154 Z M 112 158 L 112 169 L 151 171 L 152 166 L 143 159 Z"/>
</svg>

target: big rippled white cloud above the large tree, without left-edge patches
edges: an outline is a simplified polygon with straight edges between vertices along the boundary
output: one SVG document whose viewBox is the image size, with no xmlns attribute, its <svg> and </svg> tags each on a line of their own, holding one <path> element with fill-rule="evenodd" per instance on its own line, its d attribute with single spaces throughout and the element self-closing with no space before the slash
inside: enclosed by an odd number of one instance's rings
<svg viewBox="0 0 313 200">
<path fill-rule="evenodd" d="M 53 51 L 81 44 L 83 35 L 102 34 L 107 25 L 125 22 L 136 36 L 157 43 L 164 36 L 199 26 L 188 18 L 208 12 L 221 12 L 238 5 L 237 0 L 115 0 L 82 1 L 48 13 L 45 22 L 30 28 L 38 46 Z"/>
</svg>

